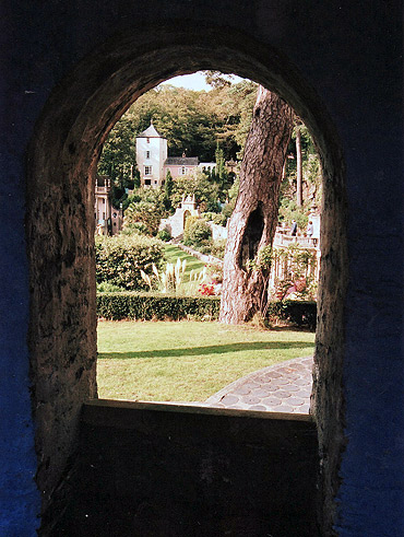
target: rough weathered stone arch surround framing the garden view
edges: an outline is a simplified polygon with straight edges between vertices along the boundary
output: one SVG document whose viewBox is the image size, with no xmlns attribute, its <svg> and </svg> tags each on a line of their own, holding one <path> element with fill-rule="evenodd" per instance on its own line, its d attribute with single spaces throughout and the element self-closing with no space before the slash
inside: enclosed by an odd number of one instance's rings
<svg viewBox="0 0 404 537">
<path fill-rule="evenodd" d="M 44 510 L 76 445 L 82 402 L 96 396 L 94 177 L 100 147 L 121 114 L 159 82 L 200 69 L 235 72 L 277 92 L 316 139 L 323 165 L 322 272 L 314 415 L 322 497 L 332 518 L 343 446 L 344 166 L 314 91 L 278 51 L 228 28 L 141 28 L 118 35 L 76 66 L 49 98 L 27 161 L 31 372 Z M 212 47 L 214 43 L 214 47 Z"/>
</svg>

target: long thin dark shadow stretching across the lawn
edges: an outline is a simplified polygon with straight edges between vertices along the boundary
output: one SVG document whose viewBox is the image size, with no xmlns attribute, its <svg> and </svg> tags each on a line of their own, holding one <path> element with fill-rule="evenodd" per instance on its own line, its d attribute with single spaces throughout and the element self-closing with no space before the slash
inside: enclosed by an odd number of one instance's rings
<svg viewBox="0 0 404 537">
<path fill-rule="evenodd" d="M 135 352 L 99 352 L 98 360 L 109 358 L 115 359 L 133 359 L 133 358 L 173 358 L 173 357 L 202 357 L 204 354 L 224 354 L 226 352 L 239 352 L 251 350 L 274 350 L 274 349 L 301 349 L 306 354 L 306 349 L 313 348 L 307 341 L 252 341 L 243 343 L 212 345 L 206 347 L 181 347 L 179 349 L 156 349 L 150 351 Z"/>
</svg>

